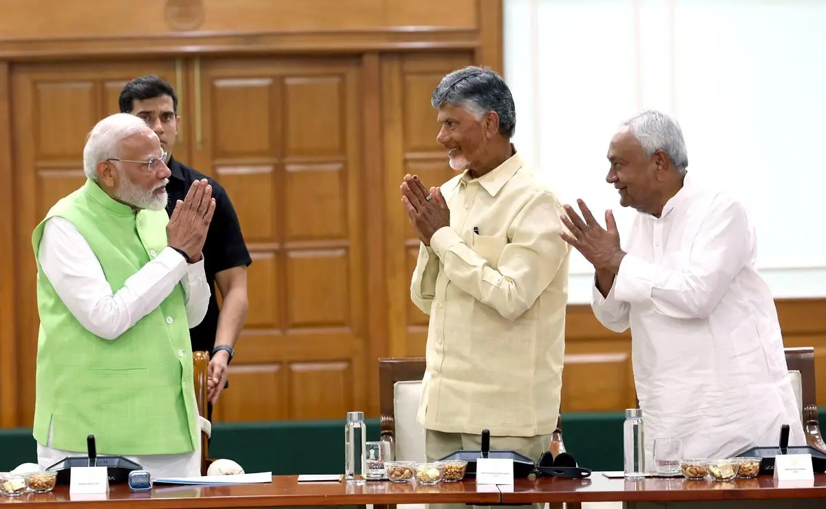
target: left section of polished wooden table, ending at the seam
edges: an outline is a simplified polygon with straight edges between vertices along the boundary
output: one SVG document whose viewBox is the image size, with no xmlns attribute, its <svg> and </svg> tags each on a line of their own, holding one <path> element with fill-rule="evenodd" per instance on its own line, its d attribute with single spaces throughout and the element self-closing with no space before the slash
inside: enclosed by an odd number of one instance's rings
<svg viewBox="0 0 826 509">
<path fill-rule="evenodd" d="M 172 509 L 190 507 L 278 507 L 335 506 L 396 503 L 496 504 L 501 494 L 496 486 L 480 486 L 472 480 L 417 486 L 415 483 L 372 481 L 360 486 L 347 483 L 298 483 L 295 475 L 273 476 L 273 483 L 223 486 L 156 484 L 152 491 L 132 493 L 126 484 L 112 484 L 107 495 L 69 495 L 68 486 L 52 493 L 23 493 L 17 497 L 0 495 L 2 503 L 26 503 L 26 507 L 55 507 L 55 504 L 83 504 L 89 509 L 125 507 L 131 509 Z M 78 506 L 79 507 L 79 506 Z"/>
</svg>

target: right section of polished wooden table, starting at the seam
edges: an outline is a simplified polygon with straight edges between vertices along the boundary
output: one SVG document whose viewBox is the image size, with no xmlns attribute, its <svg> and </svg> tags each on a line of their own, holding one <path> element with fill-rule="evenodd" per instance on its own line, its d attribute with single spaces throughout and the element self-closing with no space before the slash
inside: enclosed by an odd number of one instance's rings
<svg viewBox="0 0 826 509">
<path fill-rule="evenodd" d="M 514 486 L 501 486 L 505 504 L 535 502 L 678 502 L 700 500 L 780 500 L 826 498 L 826 474 L 815 474 L 814 482 L 778 483 L 758 476 L 729 482 L 710 478 L 646 478 L 626 481 L 594 472 L 590 478 L 516 479 Z M 826 502 L 824 502 L 826 507 Z"/>
</svg>

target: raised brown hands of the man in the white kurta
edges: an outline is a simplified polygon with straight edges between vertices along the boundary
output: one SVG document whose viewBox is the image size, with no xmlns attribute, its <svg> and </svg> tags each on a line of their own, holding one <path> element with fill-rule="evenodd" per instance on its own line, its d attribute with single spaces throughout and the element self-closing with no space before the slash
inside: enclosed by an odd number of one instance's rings
<svg viewBox="0 0 826 509">
<path fill-rule="evenodd" d="M 565 214 L 560 216 L 568 232 L 559 235 L 565 242 L 577 248 L 596 271 L 619 272 L 619 263 L 622 262 L 625 252 L 619 247 L 619 231 L 614 220 L 614 213 L 605 210 L 605 229 L 597 223 L 591 210 L 582 200 L 577 200 L 582 217 L 577 214 L 571 205 L 565 205 Z M 584 219 L 583 219 L 584 218 Z"/>
</svg>

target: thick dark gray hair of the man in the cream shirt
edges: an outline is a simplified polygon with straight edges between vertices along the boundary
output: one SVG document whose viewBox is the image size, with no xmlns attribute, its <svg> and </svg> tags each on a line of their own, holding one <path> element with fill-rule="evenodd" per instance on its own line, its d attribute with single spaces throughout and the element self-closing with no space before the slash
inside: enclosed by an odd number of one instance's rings
<svg viewBox="0 0 826 509">
<path fill-rule="evenodd" d="M 449 73 L 433 91 L 430 104 L 462 106 L 477 120 L 490 111 L 499 115 L 499 133 L 512 138 L 516 130 L 516 106 L 510 88 L 491 68 L 469 66 Z"/>
</svg>

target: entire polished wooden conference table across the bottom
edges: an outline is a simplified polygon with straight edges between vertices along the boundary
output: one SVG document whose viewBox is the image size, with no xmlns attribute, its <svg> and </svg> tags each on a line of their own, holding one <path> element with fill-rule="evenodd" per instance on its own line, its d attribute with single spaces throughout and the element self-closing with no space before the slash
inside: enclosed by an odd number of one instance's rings
<svg viewBox="0 0 826 509">
<path fill-rule="evenodd" d="M 771 477 L 715 482 L 683 478 L 625 481 L 594 472 L 590 478 L 516 479 L 513 486 L 482 486 L 472 479 L 420 486 L 415 483 L 298 483 L 297 476 L 273 476 L 272 483 L 220 486 L 161 485 L 131 493 L 113 484 L 104 495 L 76 496 L 58 486 L 51 493 L 0 495 L 0 504 L 26 509 L 217 509 L 219 507 L 364 507 L 394 504 L 458 503 L 482 506 L 537 502 L 626 502 L 625 507 L 826 507 L 826 474 L 814 482 L 779 483 Z"/>
</svg>

